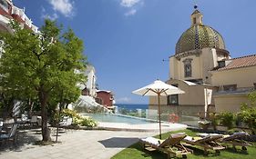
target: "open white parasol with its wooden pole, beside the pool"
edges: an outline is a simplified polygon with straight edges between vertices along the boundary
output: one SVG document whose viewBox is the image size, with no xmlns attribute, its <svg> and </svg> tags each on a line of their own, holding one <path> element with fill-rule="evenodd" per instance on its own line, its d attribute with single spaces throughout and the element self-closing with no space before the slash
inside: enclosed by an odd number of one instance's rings
<svg viewBox="0 0 256 159">
<path fill-rule="evenodd" d="M 161 139 L 161 109 L 160 96 L 167 96 L 169 94 L 184 94 L 185 92 L 176 86 L 166 84 L 160 80 L 156 80 L 153 84 L 148 84 L 132 92 L 133 94 L 158 96 L 159 98 L 159 138 Z"/>
</svg>

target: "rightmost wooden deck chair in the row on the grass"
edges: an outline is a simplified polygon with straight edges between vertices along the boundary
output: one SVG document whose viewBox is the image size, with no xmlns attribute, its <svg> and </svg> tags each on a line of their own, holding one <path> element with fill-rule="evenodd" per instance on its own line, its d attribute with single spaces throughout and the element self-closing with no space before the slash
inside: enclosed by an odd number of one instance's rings
<svg viewBox="0 0 256 159">
<path fill-rule="evenodd" d="M 232 144 L 232 147 L 236 150 L 236 146 L 241 146 L 242 150 L 247 150 L 246 146 L 251 145 L 250 143 L 243 140 L 245 136 L 249 136 L 249 134 L 245 132 L 234 133 L 231 135 L 224 135 L 224 137 L 220 140 L 221 143 Z"/>
</svg>

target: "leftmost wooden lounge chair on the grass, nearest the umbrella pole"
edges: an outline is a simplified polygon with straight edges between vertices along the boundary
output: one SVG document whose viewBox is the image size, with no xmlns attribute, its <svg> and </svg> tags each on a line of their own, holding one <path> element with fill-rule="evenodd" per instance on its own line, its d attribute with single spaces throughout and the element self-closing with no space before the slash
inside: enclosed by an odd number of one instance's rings
<svg viewBox="0 0 256 159">
<path fill-rule="evenodd" d="M 143 144 L 143 148 L 148 151 L 159 151 L 168 154 L 168 157 L 182 156 L 187 158 L 191 150 L 187 149 L 180 143 L 187 134 L 170 134 L 169 138 L 162 141 L 154 137 L 147 137 L 140 139 L 139 142 Z"/>
</svg>

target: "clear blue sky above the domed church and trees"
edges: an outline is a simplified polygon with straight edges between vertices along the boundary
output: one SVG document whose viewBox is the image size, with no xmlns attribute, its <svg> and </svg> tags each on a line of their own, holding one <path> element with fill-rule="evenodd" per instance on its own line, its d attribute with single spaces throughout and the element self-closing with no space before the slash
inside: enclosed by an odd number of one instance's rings
<svg viewBox="0 0 256 159">
<path fill-rule="evenodd" d="M 223 36 L 231 57 L 256 54 L 256 1 L 253 0 L 13 0 L 34 25 L 45 17 L 71 27 L 85 44 L 97 84 L 117 103 L 148 104 L 131 94 L 156 79 L 169 78 L 169 62 L 179 36 L 189 28 L 193 5 L 204 25 Z"/>
</svg>

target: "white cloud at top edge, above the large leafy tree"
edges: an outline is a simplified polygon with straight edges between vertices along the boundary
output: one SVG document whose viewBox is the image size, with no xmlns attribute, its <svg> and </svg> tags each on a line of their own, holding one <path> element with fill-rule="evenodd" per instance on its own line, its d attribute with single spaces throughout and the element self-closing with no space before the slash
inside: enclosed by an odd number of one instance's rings
<svg viewBox="0 0 256 159">
<path fill-rule="evenodd" d="M 59 12 L 66 17 L 74 15 L 74 1 L 72 0 L 47 0 L 52 5 L 54 11 Z"/>
</svg>

